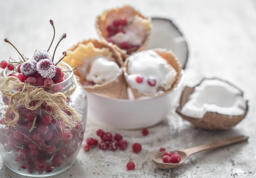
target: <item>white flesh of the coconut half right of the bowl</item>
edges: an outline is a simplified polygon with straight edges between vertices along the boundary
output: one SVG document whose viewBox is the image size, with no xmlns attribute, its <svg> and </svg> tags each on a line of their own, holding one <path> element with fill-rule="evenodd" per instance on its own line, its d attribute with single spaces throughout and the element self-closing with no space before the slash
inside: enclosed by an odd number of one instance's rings
<svg viewBox="0 0 256 178">
<path fill-rule="evenodd" d="M 189 95 L 181 113 L 202 119 L 207 112 L 239 116 L 245 114 L 246 108 L 247 102 L 240 90 L 225 81 L 204 79 Z"/>
</svg>

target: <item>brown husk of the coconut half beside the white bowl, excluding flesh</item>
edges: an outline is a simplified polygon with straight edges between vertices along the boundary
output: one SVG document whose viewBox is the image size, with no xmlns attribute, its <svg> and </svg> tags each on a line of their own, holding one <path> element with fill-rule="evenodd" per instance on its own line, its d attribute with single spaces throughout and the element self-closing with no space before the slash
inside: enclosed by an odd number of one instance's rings
<svg viewBox="0 0 256 178">
<path fill-rule="evenodd" d="M 213 79 L 218 79 L 218 78 L 213 78 Z M 219 79 L 219 80 L 224 81 L 222 79 Z M 202 83 L 202 81 L 196 86 L 199 86 Z M 225 81 L 225 82 L 227 82 L 227 81 Z M 227 82 L 227 83 L 230 84 L 229 82 Z M 232 84 L 230 84 L 230 85 L 232 85 Z M 248 108 L 249 108 L 248 101 L 246 101 L 247 107 L 245 109 L 245 113 L 243 115 L 239 115 L 239 116 L 229 116 L 229 115 L 219 114 L 217 112 L 207 112 L 206 114 L 204 114 L 202 119 L 195 119 L 195 118 L 183 115 L 181 113 L 182 107 L 186 104 L 186 102 L 189 99 L 190 94 L 192 94 L 194 92 L 196 86 L 194 86 L 192 88 L 186 86 L 182 92 L 181 99 L 180 99 L 180 106 L 176 109 L 176 112 L 183 119 L 191 122 L 196 127 L 200 127 L 205 130 L 227 130 L 227 129 L 237 125 L 238 123 L 240 123 L 240 121 L 242 121 L 245 118 L 245 116 L 248 112 Z M 232 85 L 232 86 L 234 86 L 234 85 Z M 234 86 L 234 87 L 237 88 L 236 86 Z M 239 88 L 237 88 L 237 89 L 240 90 Z M 240 92 L 241 92 L 241 96 L 243 96 L 243 91 L 240 90 Z"/>
</svg>

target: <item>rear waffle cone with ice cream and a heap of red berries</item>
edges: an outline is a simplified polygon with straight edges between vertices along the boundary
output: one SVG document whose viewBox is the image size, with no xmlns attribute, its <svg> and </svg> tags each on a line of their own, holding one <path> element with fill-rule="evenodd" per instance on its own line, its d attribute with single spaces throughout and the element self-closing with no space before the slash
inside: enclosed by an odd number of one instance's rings
<svg viewBox="0 0 256 178">
<path fill-rule="evenodd" d="M 96 29 L 102 40 L 117 45 L 125 59 L 128 54 L 142 51 L 148 45 L 152 24 L 133 7 L 124 6 L 104 11 L 96 20 Z"/>
</svg>

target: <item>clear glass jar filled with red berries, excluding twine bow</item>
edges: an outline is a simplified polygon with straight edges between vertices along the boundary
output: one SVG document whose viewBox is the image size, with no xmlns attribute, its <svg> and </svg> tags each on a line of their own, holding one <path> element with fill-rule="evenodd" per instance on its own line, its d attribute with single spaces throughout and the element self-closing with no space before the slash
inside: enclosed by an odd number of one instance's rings
<svg viewBox="0 0 256 178">
<path fill-rule="evenodd" d="M 69 72 L 65 73 L 61 83 L 45 89 L 48 92 L 65 92 L 75 84 L 72 68 L 63 62 L 58 66 Z M 8 76 L 10 72 L 5 69 L 3 76 Z M 74 119 L 74 128 L 61 129 L 63 125 L 51 116 L 52 109 L 45 104 L 37 110 L 29 110 L 19 104 L 18 122 L 7 126 L 4 114 L 9 99 L 2 93 L 0 103 L 0 154 L 9 169 L 25 176 L 44 177 L 59 174 L 72 166 L 83 141 L 87 116 L 87 97 L 78 82 L 74 92 L 67 97 L 67 104 L 82 116 L 81 122 Z"/>
</svg>

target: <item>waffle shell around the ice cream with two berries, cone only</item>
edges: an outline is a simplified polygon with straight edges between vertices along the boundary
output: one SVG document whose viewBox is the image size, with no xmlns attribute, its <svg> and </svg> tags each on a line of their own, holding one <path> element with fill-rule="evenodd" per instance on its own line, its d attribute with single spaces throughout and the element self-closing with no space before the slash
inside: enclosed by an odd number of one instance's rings
<svg viewBox="0 0 256 178">
<path fill-rule="evenodd" d="M 171 88 L 169 88 L 166 91 L 163 91 L 163 94 L 160 95 L 164 95 L 167 94 L 168 92 L 171 92 L 180 82 L 180 78 L 182 77 L 182 65 L 180 64 L 180 62 L 178 61 L 177 57 L 173 54 L 172 51 L 170 50 L 166 50 L 166 49 L 162 49 L 162 48 L 156 48 L 153 49 L 153 51 L 155 51 L 156 53 L 158 53 L 161 57 L 163 57 L 164 59 L 166 59 L 166 61 L 168 62 L 168 64 L 171 64 L 171 66 L 173 66 L 173 68 L 176 70 L 177 75 L 176 75 L 176 80 L 175 82 L 172 84 Z M 129 64 L 129 60 L 128 58 L 126 59 L 126 61 L 124 62 L 124 75 L 128 75 L 127 73 L 127 67 Z M 155 97 L 155 94 L 151 94 L 151 93 L 141 93 L 139 92 L 136 88 L 132 88 L 128 83 L 128 86 L 131 88 L 132 93 L 134 95 L 134 97 L 136 99 L 141 98 L 141 97 Z"/>
</svg>

